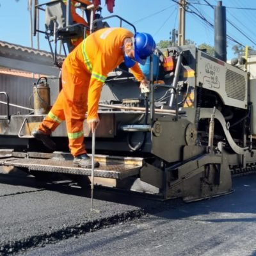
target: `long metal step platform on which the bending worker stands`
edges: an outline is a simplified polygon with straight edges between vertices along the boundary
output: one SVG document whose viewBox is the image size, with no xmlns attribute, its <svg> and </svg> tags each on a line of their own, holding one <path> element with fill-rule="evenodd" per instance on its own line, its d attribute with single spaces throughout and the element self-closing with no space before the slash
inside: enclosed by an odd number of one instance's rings
<svg viewBox="0 0 256 256">
<path fill-rule="evenodd" d="M 30 171 L 70 173 L 90 176 L 91 168 L 81 168 L 74 166 L 73 157 L 63 152 L 49 153 L 20 153 L 12 152 L 3 154 L 0 152 L 0 164 L 4 166 L 15 166 L 17 168 L 28 168 Z M 90 154 L 89 154 L 90 156 Z M 140 157 L 111 157 L 95 155 L 95 160 L 99 161 L 99 168 L 94 169 L 95 177 L 125 179 L 140 173 L 143 158 Z"/>
</svg>

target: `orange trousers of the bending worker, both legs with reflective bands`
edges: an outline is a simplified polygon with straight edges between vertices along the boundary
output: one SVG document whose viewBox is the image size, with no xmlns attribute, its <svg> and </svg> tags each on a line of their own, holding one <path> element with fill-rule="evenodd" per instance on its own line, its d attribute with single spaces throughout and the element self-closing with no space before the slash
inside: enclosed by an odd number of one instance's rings
<svg viewBox="0 0 256 256">
<path fill-rule="evenodd" d="M 84 72 L 83 77 L 70 74 L 63 63 L 62 90 L 51 108 L 50 115 L 47 115 L 38 127 L 40 131 L 51 134 L 65 120 L 68 147 L 74 157 L 86 153 L 83 143 L 83 122 L 87 111 L 90 77 L 88 72 Z"/>
</svg>

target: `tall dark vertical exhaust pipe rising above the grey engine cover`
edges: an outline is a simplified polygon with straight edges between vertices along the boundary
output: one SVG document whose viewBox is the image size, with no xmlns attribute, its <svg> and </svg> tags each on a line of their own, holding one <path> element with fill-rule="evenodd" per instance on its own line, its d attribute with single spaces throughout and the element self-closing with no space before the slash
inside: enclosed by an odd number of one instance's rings
<svg viewBox="0 0 256 256">
<path fill-rule="evenodd" d="M 214 9 L 214 56 L 222 61 L 227 61 L 227 27 L 226 7 L 218 1 Z"/>
</svg>

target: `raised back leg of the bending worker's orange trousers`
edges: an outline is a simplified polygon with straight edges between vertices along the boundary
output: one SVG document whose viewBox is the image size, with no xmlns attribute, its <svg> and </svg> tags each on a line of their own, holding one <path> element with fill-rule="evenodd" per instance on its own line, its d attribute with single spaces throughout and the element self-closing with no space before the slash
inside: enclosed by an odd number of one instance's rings
<svg viewBox="0 0 256 256">
<path fill-rule="evenodd" d="M 51 134 L 51 132 L 54 131 L 64 120 L 63 92 L 61 91 L 56 99 L 56 102 L 52 106 L 48 115 L 45 116 L 38 129 L 46 134 Z"/>
</svg>

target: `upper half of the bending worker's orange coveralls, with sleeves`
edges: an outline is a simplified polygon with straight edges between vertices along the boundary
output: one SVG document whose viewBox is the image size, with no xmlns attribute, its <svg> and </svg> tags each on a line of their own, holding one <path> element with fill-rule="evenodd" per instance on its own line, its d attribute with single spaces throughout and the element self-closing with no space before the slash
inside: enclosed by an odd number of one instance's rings
<svg viewBox="0 0 256 256">
<path fill-rule="evenodd" d="M 88 117 L 87 120 L 98 118 L 98 103 L 102 84 L 108 73 L 124 61 L 124 39 L 134 36 L 124 28 L 105 28 L 92 33 L 79 44 L 66 58 L 63 64 L 71 74 L 84 77 L 91 74 L 88 84 Z M 138 63 L 131 68 L 138 81 L 144 77 Z"/>
</svg>

